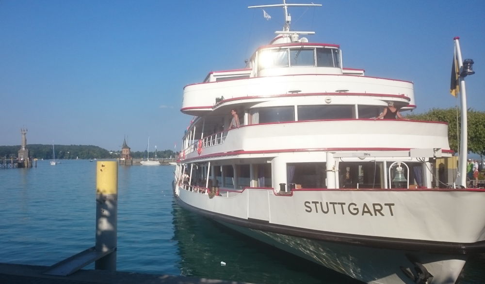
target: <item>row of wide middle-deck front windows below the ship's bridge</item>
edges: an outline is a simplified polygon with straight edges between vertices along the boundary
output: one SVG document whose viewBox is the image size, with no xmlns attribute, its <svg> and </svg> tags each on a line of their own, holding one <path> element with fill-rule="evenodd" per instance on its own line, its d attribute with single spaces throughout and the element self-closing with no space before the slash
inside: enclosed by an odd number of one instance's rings
<svg viewBox="0 0 485 284">
<path fill-rule="evenodd" d="M 379 116 L 382 106 L 358 105 L 299 105 L 264 107 L 251 109 L 248 113 L 248 123 L 272 123 L 295 120 L 338 120 L 338 119 L 370 119 Z"/>
</svg>

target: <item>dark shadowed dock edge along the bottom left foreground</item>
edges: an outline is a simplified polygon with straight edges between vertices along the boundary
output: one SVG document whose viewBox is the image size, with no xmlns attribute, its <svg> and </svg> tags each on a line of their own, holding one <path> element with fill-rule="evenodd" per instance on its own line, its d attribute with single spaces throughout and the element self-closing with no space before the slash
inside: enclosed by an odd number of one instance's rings
<svg viewBox="0 0 485 284">
<path fill-rule="evenodd" d="M 157 275 L 122 271 L 82 269 L 69 276 L 43 274 L 48 266 L 0 263 L 1 284 L 244 284 L 244 282 Z"/>
</svg>

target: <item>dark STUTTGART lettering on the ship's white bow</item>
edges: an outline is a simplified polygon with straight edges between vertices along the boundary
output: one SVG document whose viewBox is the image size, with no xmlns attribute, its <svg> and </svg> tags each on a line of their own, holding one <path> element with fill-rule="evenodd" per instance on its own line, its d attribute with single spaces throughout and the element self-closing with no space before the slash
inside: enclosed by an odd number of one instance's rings
<svg viewBox="0 0 485 284">
<path fill-rule="evenodd" d="M 333 215 L 369 215 L 369 216 L 394 216 L 392 207 L 394 203 L 362 203 L 354 202 L 322 202 L 322 201 L 305 201 L 305 211 L 308 213 L 323 213 Z"/>
</svg>

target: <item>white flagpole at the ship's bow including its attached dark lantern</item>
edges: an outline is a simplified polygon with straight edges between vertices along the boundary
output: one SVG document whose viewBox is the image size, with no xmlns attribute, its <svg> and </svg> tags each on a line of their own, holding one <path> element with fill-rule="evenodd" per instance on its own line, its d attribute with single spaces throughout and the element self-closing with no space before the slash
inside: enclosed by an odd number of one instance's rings
<svg viewBox="0 0 485 284">
<path fill-rule="evenodd" d="M 472 70 L 473 60 L 466 59 L 462 61 L 461 49 L 460 49 L 460 37 L 453 38 L 454 40 L 454 52 L 456 56 L 455 64 L 458 64 L 459 70 L 459 92 L 461 103 L 461 137 L 460 137 L 460 149 L 458 150 L 458 175 L 456 183 L 457 185 L 467 186 L 467 153 L 468 153 L 468 114 L 467 114 L 467 91 L 465 89 L 465 77 L 467 75 L 473 75 L 475 72 Z M 465 66 L 464 64 L 465 63 Z"/>
</svg>

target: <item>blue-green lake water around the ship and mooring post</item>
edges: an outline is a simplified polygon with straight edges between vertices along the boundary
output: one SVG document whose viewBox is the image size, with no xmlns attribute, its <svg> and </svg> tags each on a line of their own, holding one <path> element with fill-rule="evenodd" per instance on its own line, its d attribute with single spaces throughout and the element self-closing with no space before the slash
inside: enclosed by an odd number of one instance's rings
<svg viewBox="0 0 485 284">
<path fill-rule="evenodd" d="M 0 262 L 50 266 L 95 245 L 97 163 L 61 162 L 0 169 Z M 359 283 L 179 208 L 174 168 L 119 166 L 117 270 L 267 284 Z M 460 283 L 484 283 L 484 268 L 485 254 L 473 257 Z"/>
</svg>

